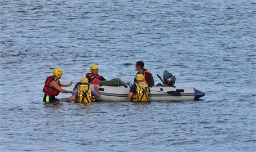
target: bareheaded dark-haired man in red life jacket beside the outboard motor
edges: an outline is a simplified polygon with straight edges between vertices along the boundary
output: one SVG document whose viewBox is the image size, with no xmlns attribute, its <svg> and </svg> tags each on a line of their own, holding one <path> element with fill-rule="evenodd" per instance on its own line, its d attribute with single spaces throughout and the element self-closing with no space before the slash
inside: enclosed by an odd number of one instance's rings
<svg viewBox="0 0 256 152">
<path fill-rule="evenodd" d="M 154 78 L 151 72 L 149 72 L 147 69 L 144 69 L 144 62 L 143 61 L 138 61 L 135 64 L 136 70 L 138 70 L 138 73 L 136 74 L 142 74 L 143 75 L 143 81 L 146 81 L 148 83 L 149 87 L 154 86 Z M 136 79 L 134 78 L 134 82 L 136 82 Z"/>
</svg>

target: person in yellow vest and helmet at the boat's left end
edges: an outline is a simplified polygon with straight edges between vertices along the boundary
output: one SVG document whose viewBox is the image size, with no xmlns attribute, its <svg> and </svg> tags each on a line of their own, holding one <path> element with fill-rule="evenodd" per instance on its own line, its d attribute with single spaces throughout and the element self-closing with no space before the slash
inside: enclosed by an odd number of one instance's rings
<svg viewBox="0 0 256 152">
<path fill-rule="evenodd" d="M 90 103 L 95 101 L 95 96 L 100 97 L 99 87 L 96 84 L 90 84 L 86 77 L 83 77 L 74 90 L 73 95 L 66 101 L 71 102 L 75 100 L 82 103 Z"/>
</svg>

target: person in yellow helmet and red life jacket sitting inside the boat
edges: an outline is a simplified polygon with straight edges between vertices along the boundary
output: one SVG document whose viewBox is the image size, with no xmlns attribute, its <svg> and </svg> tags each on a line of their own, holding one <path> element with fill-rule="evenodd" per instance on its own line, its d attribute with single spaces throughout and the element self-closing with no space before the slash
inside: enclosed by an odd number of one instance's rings
<svg viewBox="0 0 256 152">
<path fill-rule="evenodd" d="M 106 79 L 98 74 L 99 67 L 98 65 L 91 65 L 91 73 L 86 73 L 85 77 L 89 80 L 89 83 L 99 84 L 99 81 L 105 81 Z"/>
</svg>

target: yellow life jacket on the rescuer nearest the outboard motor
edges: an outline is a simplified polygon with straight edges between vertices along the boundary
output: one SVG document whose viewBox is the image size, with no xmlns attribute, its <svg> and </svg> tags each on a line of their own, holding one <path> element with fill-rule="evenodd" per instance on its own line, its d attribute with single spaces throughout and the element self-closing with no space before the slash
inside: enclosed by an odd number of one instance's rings
<svg viewBox="0 0 256 152">
<path fill-rule="evenodd" d="M 136 83 L 136 93 L 133 94 L 131 101 L 140 102 L 140 101 L 149 101 L 149 88 L 147 82 Z"/>
</svg>

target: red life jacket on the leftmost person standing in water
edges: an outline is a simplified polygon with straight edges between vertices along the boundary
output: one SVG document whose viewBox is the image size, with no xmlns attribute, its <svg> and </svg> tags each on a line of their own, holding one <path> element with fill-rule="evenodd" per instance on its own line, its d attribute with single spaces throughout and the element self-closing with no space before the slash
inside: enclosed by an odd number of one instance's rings
<svg viewBox="0 0 256 152">
<path fill-rule="evenodd" d="M 61 86 L 60 81 L 58 81 L 54 76 L 47 77 L 45 81 L 45 86 L 43 87 L 43 92 L 49 96 L 58 96 L 60 91 L 50 85 L 51 81 L 56 81 L 59 86 Z"/>
</svg>

